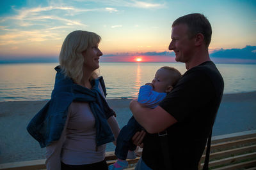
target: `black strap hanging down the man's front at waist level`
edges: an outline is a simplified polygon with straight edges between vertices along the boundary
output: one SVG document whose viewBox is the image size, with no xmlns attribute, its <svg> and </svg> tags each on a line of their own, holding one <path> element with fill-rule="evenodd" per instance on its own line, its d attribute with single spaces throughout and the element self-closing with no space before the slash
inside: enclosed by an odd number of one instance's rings
<svg viewBox="0 0 256 170">
<path fill-rule="evenodd" d="M 171 162 L 170 162 L 170 150 L 169 150 L 169 143 L 168 143 L 168 134 L 167 131 L 159 132 L 158 133 L 160 142 L 161 142 L 161 149 L 163 154 L 164 160 L 164 167 L 165 169 L 171 169 Z"/>
</svg>

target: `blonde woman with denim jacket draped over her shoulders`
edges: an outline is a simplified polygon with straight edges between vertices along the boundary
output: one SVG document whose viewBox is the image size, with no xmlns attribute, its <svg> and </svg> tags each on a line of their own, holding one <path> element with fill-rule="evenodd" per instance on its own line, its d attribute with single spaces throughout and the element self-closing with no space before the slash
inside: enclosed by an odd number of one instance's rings
<svg viewBox="0 0 256 170">
<path fill-rule="evenodd" d="M 100 39 L 87 31 L 68 34 L 51 100 L 27 127 L 40 146 L 46 146 L 47 169 L 108 169 L 106 143 L 115 141 L 120 129 L 96 72 Z"/>
</svg>

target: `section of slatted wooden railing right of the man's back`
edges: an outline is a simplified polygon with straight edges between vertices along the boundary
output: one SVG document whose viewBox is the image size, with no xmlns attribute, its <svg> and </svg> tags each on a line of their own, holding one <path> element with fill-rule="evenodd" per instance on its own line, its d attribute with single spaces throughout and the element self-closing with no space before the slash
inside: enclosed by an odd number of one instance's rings
<svg viewBox="0 0 256 170">
<path fill-rule="evenodd" d="M 205 155 L 200 162 L 204 162 Z M 202 169 L 204 163 L 199 165 Z M 256 169 L 256 131 L 212 137 L 210 169 Z"/>
</svg>

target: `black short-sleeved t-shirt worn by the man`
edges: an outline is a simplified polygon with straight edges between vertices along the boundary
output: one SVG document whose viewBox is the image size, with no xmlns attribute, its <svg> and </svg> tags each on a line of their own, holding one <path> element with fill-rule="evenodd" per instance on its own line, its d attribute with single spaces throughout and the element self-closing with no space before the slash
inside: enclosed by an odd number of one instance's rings
<svg viewBox="0 0 256 170">
<path fill-rule="evenodd" d="M 177 123 L 168 127 L 172 169 L 197 169 L 223 95 L 223 78 L 211 61 L 186 71 L 159 104 Z M 157 134 L 147 134 L 142 159 L 152 169 L 164 169 Z"/>
</svg>

